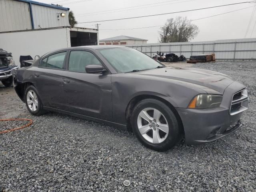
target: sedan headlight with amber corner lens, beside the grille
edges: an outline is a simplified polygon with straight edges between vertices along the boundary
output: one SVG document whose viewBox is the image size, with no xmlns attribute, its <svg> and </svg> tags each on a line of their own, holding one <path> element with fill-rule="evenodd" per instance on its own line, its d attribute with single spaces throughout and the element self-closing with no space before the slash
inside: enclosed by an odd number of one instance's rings
<svg viewBox="0 0 256 192">
<path fill-rule="evenodd" d="M 199 94 L 195 96 L 188 108 L 190 109 L 205 109 L 205 108 L 214 108 L 219 107 L 222 101 L 221 95 L 208 95 L 208 94 Z"/>
</svg>

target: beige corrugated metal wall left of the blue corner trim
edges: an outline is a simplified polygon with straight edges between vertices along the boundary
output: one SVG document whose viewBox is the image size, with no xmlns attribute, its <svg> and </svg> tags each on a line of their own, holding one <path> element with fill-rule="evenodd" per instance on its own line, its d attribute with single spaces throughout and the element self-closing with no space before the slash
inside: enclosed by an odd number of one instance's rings
<svg viewBox="0 0 256 192">
<path fill-rule="evenodd" d="M 0 32 L 32 29 L 28 3 L 0 0 Z"/>
</svg>

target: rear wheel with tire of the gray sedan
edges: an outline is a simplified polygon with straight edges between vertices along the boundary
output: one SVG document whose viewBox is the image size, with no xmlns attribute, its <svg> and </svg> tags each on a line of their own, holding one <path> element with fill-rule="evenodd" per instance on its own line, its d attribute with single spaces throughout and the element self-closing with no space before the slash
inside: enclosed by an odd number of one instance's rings
<svg viewBox="0 0 256 192">
<path fill-rule="evenodd" d="M 28 108 L 28 111 L 35 116 L 44 114 L 46 111 L 43 109 L 42 102 L 36 88 L 32 85 L 26 88 L 24 94 L 24 101 Z M 37 106 L 36 106 L 37 104 Z"/>
</svg>

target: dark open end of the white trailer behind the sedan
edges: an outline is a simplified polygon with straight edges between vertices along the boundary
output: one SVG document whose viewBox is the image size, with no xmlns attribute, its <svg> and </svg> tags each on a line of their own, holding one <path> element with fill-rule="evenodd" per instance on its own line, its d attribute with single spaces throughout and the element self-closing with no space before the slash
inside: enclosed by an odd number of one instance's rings
<svg viewBox="0 0 256 192">
<path fill-rule="evenodd" d="M 71 47 L 97 45 L 97 33 L 70 31 Z"/>
</svg>

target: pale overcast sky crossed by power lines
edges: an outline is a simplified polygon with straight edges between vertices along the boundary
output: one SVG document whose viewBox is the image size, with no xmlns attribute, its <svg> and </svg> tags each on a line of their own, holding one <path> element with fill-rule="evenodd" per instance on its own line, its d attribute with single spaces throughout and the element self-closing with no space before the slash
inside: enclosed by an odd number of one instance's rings
<svg viewBox="0 0 256 192">
<path fill-rule="evenodd" d="M 54 2 L 54 0 L 38 1 L 44 3 Z M 74 12 L 78 22 L 90 22 L 97 20 L 108 20 L 191 10 L 244 1 L 246 0 L 55 0 L 54 3 L 58 3 L 64 7 L 70 8 L 70 10 Z M 193 42 L 244 38 L 250 17 L 252 15 L 252 11 L 254 9 L 254 5 L 255 3 L 246 3 L 177 14 L 151 16 L 146 18 L 98 22 L 98 24 L 100 24 L 99 38 L 104 39 L 113 36 L 126 35 L 148 39 L 148 43 L 156 43 L 158 42 L 158 31 L 160 30 L 160 27 L 133 30 L 128 29 L 163 25 L 168 18 L 175 18 L 176 16 L 187 16 L 188 19 L 194 20 L 252 6 L 250 8 L 238 10 L 220 16 L 192 21 L 192 23 L 196 24 L 199 28 L 198 35 L 196 38 L 191 40 Z M 256 14 L 252 19 L 246 38 L 256 37 L 256 26 L 252 33 L 255 23 Z M 77 26 L 95 28 L 94 24 L 96 23 L 78 24 Z"/>
</svg>

